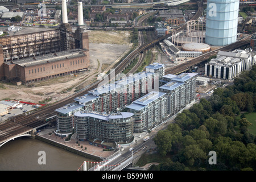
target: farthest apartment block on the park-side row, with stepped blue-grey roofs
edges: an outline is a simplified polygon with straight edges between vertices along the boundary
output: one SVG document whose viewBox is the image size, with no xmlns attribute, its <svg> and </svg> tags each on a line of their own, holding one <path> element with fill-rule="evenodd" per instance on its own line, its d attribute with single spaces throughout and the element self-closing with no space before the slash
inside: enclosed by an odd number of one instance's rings
<svg viewBox="0 0 256 182">
<path fill-rule="evenodd" d="M 167 114 L 174 115 L 195 100 L 197 73 L 181 73 L 179 76 L 166 75 L 159 92 L 165 92 L 167 97 Z"/>
</svg>

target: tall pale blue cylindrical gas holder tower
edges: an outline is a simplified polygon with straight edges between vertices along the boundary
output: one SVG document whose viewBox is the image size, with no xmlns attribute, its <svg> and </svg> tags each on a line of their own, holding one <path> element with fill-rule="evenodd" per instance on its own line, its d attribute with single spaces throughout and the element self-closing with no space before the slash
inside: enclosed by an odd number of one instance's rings
<svg viewBox="0 0 256 182">
<path fill-rule="evenodd" d="M 239 0 L 208 0 L 205 43 L 226 46 L 237 40 Z"/>
</svg>

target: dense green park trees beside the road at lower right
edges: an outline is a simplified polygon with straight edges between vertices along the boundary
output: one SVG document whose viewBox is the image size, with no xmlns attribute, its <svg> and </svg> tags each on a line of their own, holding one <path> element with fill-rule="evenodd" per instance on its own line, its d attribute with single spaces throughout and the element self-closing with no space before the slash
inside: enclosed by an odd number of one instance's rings
<svg viewBox="0 0 256 182">
<path fill-rule="evenodd" d="M 255 136 L 251 125 L 237 115 L 256 109 L 256 66 L 234 80 L 228 88 L 218 88 L 209 100 L 201 99 L 189 110 L 177 114 L 175 123 L 154 138 L 162 156 L 170 157 L 160 170 L 255 170 Z M 250 85 L 250 86 L 246 86 Z M 235 130 L 238 127 L 240 130 Z M 217 164 L 208 163 L 209 152 L 217 154 Z"/>
</svg>

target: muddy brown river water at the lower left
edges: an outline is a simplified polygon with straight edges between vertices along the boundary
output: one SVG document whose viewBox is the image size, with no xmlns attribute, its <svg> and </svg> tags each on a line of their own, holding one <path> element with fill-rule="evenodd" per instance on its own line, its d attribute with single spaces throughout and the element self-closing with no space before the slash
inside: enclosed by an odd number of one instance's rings
<svg viewBox="0 0 256 182">
<path fill-rule="evenodd" d="M 46 164 L 39 164 L 45 152 Z M 77 171 L 84 161 L 94 161 L 38 139 L 16 138 L 0 147 L 0 171 Z"/>
</svg>

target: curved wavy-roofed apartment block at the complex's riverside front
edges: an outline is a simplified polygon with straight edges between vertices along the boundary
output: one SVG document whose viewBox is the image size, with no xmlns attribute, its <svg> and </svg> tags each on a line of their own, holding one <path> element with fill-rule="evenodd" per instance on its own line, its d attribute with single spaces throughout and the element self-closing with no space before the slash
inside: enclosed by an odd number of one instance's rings
<svg viewBox="0 0 256 182">
<path fill-rule="evenodd" d="M 113 114 L 80 111 L 74 114 L 74 129 L 79 140 L 98 143 L 130 143 L 133 140 L 133 113 Z"/>
</svg>

